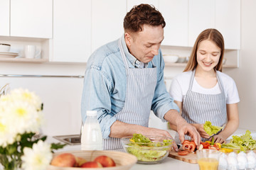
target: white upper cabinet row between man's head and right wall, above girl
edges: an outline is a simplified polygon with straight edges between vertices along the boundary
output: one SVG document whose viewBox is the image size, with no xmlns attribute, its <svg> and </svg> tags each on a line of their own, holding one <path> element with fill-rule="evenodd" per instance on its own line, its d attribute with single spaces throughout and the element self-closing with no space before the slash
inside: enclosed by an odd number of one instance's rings
<svg viewBox="0 0 256 170">
<path fill-rule="evenodd" d="M 225 48 L 240 49 L 240 0 L 159 0 L 165 18 L 162 45 L 193 47 L 207 28 L 223 34 Z"/>
</svg>

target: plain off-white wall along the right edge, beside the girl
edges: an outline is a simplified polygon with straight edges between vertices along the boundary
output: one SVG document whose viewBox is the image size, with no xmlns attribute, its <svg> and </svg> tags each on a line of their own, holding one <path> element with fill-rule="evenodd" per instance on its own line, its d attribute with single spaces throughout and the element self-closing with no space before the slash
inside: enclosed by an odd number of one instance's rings
<svg viewBox="0 0 256 170">
<path fill-rule="evenodd" d="M 225 69 L 238 86 L 240 128 L 256 129 L 256 1 L 241 1 L 240 67 Z"/>
</svg>

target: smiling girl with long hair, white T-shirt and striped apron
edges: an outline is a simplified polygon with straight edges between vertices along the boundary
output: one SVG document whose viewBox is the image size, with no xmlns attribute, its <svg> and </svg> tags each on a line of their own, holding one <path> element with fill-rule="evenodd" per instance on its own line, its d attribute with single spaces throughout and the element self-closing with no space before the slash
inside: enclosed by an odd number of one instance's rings
<svg viewBox="0 0 256 170">
<path fill-rule="evenodd" d="M 224 40 L 218 30 L 207 29 L 198 35 L 183 73 L 171 82 L 169 93 L 181 109 L 182 117 L 196 127 L 202 141 L 212 140 L 203 123 L 225 128 L 214 141 L 223 143 L 238 128 L 238 89 L 235 81 L 222 73 Z M 176 130 L 174 125 L 171 128 Z M 176 134 L 176 142 L 178 134 Z M 189 139 L 189 137 L 186 137 Z"/>
</svg>

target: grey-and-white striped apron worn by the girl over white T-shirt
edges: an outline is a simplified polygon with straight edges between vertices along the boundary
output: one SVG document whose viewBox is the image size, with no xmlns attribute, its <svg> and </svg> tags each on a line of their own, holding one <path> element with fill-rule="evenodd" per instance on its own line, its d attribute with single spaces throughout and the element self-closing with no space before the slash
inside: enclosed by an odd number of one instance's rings
<svg viewBox="0 0 256 170">
<path fill-rule="evenodd" d="M 212 125 L 223 126 L 227 120 L 226 99 L 223 90 L 223 83 L 216 72 L 218 85 L 220 86 L 220 94 L 200 94 L 191 91 L 196 70 L 192 72 L 191 81 L 188 92 L 183 98 L 182 117 L 188 123 L 204 124 L 210 121 Z M 191 140 L 191 137 L 185 135 L 186 140 Z M 208 139 L 201 138 L 202 141 Z M 175 141 L 181 143 L 176 132 Z"/>
</svg>

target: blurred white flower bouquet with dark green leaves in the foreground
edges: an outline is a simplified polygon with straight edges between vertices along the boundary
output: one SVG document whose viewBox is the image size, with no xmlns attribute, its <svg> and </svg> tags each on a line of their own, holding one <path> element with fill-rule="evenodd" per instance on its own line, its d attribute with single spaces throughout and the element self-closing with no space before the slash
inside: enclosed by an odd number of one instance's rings
<svg viewBox="0 0 256 170">
<path fill-rule="evenodd" d="M 0 94 L 0 166 L 4 170 L 46 169 L 53 149 L 65 146 L 48 144 L 46 136 L 34 137 L 43 123 L 42 111 L 41 99 L 26 89 Z"/>
</svg>

